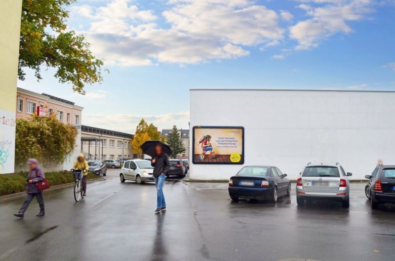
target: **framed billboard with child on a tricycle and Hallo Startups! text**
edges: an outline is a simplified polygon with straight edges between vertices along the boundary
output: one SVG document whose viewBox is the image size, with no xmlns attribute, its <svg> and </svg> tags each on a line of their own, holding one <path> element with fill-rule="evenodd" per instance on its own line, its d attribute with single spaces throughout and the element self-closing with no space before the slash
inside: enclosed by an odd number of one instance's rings
<svg viewBox="0 0 395 261">
<path fill-rule="evenodd" d="M 194 126 L 194 164 L 243 164 L 244 128 Z"/>
</svg>

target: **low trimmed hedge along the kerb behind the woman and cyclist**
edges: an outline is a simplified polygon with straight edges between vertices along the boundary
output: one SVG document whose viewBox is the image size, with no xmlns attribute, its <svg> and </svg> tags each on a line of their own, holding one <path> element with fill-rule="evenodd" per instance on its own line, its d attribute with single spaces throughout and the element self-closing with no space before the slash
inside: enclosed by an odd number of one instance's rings
<svg viewBox="0 0 395 261">
<path fill-rule="evenodd" d="M 0 196 L 23 192 L 26 190 L 26 179 L 28 172 L 18 172 L 12 174 L 0 175 Z M 74 182 L 73 175 L 68 170 L 45 172 L 45 178 L 48 180 L 50 186 L 61 185 Z M 99 176 L 88 173 L 87 179 L 96 179 Z"/>
</svg>

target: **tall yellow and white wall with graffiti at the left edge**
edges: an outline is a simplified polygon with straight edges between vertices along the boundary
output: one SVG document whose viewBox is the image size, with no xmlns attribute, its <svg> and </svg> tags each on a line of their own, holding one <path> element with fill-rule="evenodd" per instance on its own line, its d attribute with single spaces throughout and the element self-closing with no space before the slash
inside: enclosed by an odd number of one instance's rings
<svg viewBox="0 0 395 261">
<path fill-rule="evenodd" d="M 14 172 L 21 8 L 22 0 L 0 1 L 0 174 Z"/>
</svg>

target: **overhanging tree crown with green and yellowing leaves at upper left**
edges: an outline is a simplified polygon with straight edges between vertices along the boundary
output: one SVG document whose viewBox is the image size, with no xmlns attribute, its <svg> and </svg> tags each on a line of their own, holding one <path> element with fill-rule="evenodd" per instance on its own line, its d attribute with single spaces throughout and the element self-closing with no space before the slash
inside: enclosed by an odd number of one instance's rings
<svg viewBox="0 0 395 261">
<path fill-rule="evenodd" d="M 103 61 L 89 50 L 83 35 L 67 30 L 68 7 L 76 0 L 23 0 L 19 43 L 18 77 L 25 79 L 24 67 L 41 79 L 42 65 L 56 68 L 55 77 L 85 94 L 86 84 L 100 83 Z M 108 70 L 107 70 L 108 71 Z"/>
</svg>

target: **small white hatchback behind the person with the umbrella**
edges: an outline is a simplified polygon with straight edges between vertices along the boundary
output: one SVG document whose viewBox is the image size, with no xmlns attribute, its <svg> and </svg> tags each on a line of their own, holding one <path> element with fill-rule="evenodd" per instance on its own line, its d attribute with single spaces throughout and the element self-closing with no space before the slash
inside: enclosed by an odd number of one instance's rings
<svg viewBox="0 0 395 261">
<path fill-rule="evenodd" d="M 153 171 L 154 167 L 151 166 L 151 161 L 129 160 L 123 163 L 119 179 L 120 182 L 133 180 L 137 184 L 141 184 L 143 182 L 154 182 Z"/>
</svg>

